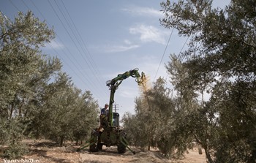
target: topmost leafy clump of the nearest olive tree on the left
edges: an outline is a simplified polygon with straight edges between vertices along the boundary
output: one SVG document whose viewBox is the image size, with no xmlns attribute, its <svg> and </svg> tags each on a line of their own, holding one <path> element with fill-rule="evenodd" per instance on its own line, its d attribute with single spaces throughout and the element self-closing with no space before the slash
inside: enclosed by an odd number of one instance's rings
<svg viewBox="0 0 256 163">
<path fill-rule="evenodd" d="M 18 12 L 14 22 L 1 14 L 0 23 L 1 48 L 9 48 L 9 45 L 39 48 L 54 38 L 53 29 L 48 29 L 45 22 L 34 18 L 31 11 L 26 14 Z"/>
</svg>

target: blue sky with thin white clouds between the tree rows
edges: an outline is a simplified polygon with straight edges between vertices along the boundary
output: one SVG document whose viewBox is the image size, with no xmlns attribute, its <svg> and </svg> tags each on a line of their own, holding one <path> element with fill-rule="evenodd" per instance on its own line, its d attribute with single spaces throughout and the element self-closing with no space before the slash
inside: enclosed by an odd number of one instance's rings
<svg viewBox="0 0 256 163">
<path fill-rule="evenodd" d="M 138 68 L 150 77 L 151 83 L 160 76 L 168 80 L 165 64 L 170 61 L 170 53 L 181 51 L 187 38 L 178 37 L 176 30 L 170 37 L 172 29 L 160 26 L 161 2 L 0 0 L 0 10 L 11 19 L 18 11 L 31 10 L 53 27 L 56 39 L 42 48 L 43 53 L 60 58 L 63 71 L 72 77 L 75 86 L 91 91 L 103 107 L 110 95 L 105 83 L 120 73 Z M 228 2 L 215 0 L 214 6 L 223 7 Z M 115 94 L 121 116 L 134 113 L 136 96 L 138 85 L 135 78 L 129 77 Z"/>
</svg>

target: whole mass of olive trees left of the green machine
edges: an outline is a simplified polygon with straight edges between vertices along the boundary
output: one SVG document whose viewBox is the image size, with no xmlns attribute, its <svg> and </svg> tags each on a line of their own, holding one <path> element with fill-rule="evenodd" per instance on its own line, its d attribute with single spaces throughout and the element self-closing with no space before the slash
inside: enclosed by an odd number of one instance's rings
<svg viewBox="0 0 256 163">
<path fill-rule="evenodd" d="M 81 93 L 61 72 L 59 58 L 39 50 L 54 38 L 53 29 L 18 12 L 14 21 L 0 14 L 0 144 L 4 156 L 26 153 L 23 137 L 47 137 L 62 145 L 80 140 L 97 123 L 97 102 Z"/>
</svg>

